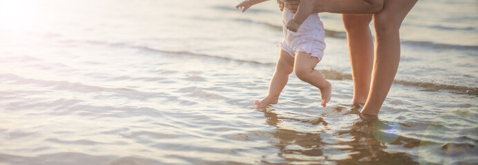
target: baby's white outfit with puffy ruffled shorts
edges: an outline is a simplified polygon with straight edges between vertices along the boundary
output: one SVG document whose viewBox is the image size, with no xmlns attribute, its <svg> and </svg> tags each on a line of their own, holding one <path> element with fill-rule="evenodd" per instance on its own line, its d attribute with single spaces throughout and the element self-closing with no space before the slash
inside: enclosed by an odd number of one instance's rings
<svg viewBox="0 0 478 165">
<path fill-rule="evenodd" d="M 289 12 L 287 8 L 284 8 L 284 39 L 280 41 L 278 47 L 289 53 L 292 57 L 295 57 L 297 52 L 306 52 L 321 61 L 325 50 L 325 31 L 318 14 L 310 14 L 304 23 L 300 25 L 297 32 L 292 32 L 286 28 L 287 22 L 292 18 L 294 18 L 294 14 Z"/>
</svg>

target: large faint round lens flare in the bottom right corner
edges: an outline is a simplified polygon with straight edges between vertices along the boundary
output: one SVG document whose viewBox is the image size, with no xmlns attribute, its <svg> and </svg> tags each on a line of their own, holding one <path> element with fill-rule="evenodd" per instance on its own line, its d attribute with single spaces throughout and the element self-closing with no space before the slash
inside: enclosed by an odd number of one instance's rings
<svg viewBox="0 0 478 165">
<path fill-rule="evenodd" d="M 477 128 L 477 116 L 475 109 L 457 109 L 431 122 L 421 137 L 419 163 L 461 164 L 468 161 L 467 153 L 477 152 L 472 144 L 474 138 L 469 137 L 473 134 L 470 131 Z"/>
</svg>

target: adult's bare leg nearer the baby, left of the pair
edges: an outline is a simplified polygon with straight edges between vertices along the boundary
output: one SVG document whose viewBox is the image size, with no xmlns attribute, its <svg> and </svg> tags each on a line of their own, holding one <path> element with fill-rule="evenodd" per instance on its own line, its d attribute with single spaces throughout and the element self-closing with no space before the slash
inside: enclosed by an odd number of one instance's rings
<svg viewBox="0 0 478 165">
<path fill-rule="evenodd" d="M 371 14 L 342 14 L 347 31 L 350 66 L 354 80 L 354 104 L 365 104 L 370 90 L 370 78 L 374 62 L 374 43 L 369 24 Z"/>
</svg>

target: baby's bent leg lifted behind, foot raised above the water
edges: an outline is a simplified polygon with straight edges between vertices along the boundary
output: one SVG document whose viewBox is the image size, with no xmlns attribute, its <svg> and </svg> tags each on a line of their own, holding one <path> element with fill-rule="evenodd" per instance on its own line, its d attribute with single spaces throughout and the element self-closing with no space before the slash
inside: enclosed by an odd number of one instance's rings
<svg viewBox="0 0 478 165">
<path fill-rule="evenodd" d="M 321 72 L 314 69 L 319 62 L 318 58 L 310 56 L 310 54 L 305 52 L 298 52 L 295 60 L 294 72 L 296 72 L 297 78 L 314 85 L 314 87 L 321 91 L 321 105 L 325 107 L 332 95 L 332 85 L 325 80 Z"/>
</svg>

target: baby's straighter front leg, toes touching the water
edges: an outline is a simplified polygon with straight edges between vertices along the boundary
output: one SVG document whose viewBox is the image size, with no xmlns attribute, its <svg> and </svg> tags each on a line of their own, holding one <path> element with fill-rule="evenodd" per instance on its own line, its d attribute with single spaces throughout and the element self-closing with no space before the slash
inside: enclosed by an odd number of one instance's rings
<svg viewBox="0 0 478 165">
<path fill-rule="evenodd" d="M 279 59 L 276 65 L 276 72 L 272 76 L 271 83 L 269 85 L 269 92 L 262 100 L 254 101 L 256 107 L 264 108 L 269 104 L 277 104 L 279 100 L 280 92 L 284 89 L 287 81 L 289 80 L 289 74 L 294 70 L 294 57 L 280 50 Z"/>
</svg>

